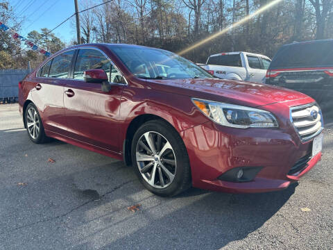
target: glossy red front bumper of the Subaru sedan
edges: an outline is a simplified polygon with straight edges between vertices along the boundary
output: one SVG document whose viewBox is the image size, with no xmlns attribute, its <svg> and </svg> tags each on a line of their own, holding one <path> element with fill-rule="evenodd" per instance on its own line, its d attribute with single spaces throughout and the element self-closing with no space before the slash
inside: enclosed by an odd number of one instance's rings
<svg viewBox="0 0 333 250">
<path fill-rule="evenodd" d="M 312 140 L 302 143 L 290 131 L 267 128 L 228 128 L 206 122 L 180 133 L 191 164 L 196 188 L 221 192 L 270 192 L 287 188 L 308 172 L 321 153 L 289 175 L 298 160 L 311 154 Z M 262 167 L 252 181 L 221 181 L 234 167 Z"/>
</svg>

